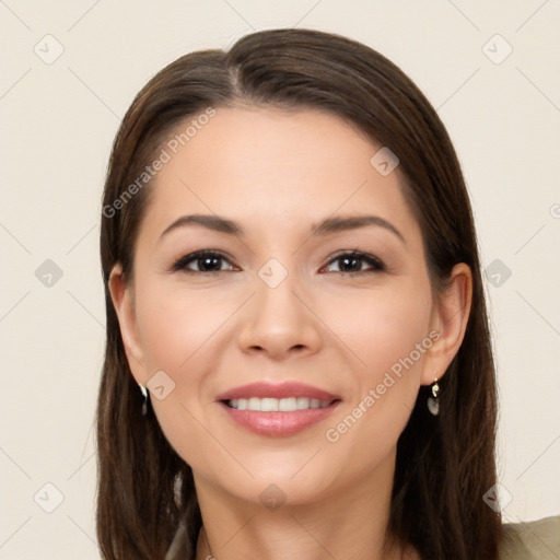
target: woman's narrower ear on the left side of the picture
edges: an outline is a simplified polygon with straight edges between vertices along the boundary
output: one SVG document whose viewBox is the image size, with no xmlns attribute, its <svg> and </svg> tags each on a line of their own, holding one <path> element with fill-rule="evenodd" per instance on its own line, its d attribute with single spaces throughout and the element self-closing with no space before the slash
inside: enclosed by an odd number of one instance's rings
<svg viewBox="0 0 560 560">
<path fill-rule="evenodd" d="M 126 284 L 122 268 L 118 262 L 110 271 L 108 287 L 113 306 L 117 313 L 120 336 L 125 346 L 130 371 L 136 382 L 145 386 L 148 375 L 145 372 L 144 352 L 138 331 L 133 292 L 132 288 Z"/>
</svg>

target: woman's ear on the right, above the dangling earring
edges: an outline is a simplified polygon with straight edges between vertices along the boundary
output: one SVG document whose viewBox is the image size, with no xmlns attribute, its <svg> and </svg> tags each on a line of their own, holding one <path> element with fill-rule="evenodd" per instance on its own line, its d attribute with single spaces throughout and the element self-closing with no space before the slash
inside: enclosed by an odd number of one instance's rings
<svg viewBox="0 0 560 560">
<path fill-rule="evenodd" d="M 470 315 L 472 301 L 472 273 L 465 262 L 455 265 L 448 285 L 439 294 L 432 313 L 432 329 L 440 334 L 429 351 L 422 370 L 422 385 L 441 380 L 458 352 Z"/>
</svg>

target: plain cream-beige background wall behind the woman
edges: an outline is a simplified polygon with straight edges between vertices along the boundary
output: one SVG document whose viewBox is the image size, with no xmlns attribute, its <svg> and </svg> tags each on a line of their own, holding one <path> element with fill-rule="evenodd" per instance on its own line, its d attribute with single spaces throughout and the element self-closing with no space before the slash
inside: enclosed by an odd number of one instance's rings
<svg viewBox="0 0 560 560">
<path fill-rule="evenodd" d="M 175 58 L 269 27 L 361 40 L 438 108 L 490 267 L 503 516 L 558 513 L 559 21 L 553 0 L 0 1 L 0 559 L 98 558 L 98 224 L 120 117 Z"/>
</svg>

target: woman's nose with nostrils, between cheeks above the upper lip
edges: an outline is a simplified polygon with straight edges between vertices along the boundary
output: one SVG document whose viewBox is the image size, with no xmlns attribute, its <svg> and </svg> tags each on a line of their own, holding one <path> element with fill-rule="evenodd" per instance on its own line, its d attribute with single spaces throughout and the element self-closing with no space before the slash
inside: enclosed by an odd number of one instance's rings
<svg viewBox="0 0 560 560">
<path fill-rule="evenodd" d="M 295 284 L 292 275 L 276 288 L 257 279 L 256 293 L 240 317 L 238 345 L 244 352 L 285 360 L 311 355 L 320 349 L 320 319 L 312 311 L 311 298 L 301 284 Z"/>
</svg>

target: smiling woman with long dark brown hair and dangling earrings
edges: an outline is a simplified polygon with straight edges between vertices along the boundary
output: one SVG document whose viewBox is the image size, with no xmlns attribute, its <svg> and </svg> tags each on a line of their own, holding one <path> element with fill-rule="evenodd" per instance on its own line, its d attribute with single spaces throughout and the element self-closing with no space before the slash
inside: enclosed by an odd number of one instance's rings
<svg viewBox="0 0 560 560">
<path fill-rule="evenodd" d="M 522 550 L 468 195 L 395 65 L 305 30 L 179 58 L 122 121 L 102 220 L 104 558 Z"/>
</svg>

